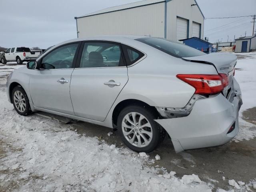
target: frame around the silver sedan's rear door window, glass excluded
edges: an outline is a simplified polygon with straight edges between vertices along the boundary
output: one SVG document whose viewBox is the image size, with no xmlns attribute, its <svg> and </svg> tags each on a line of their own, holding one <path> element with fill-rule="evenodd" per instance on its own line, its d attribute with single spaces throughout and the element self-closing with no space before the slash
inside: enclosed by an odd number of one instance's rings
<svg viewBox="0 0 256 192">
<path fill-rule="evenodd" d="M 84 50 L 84 44 L 86 43 L 108 43 L 108 44 L 116 44 L 119 46 L 120 48 L 120 52 L 121 52 L 121 56 L 122 56 L 122 59 L 123 59 L 123 62 L 124 62 L 124 66 L 116 66 L 116 67 L 80 67 L 80 61 L 81 61 L 81 58 L 82 58 L 82 53 L 83 53 L 83 50 Z M 124 58 L 124 52 L 122 50 L 122 44 L 120 42 L 116 42 L 116 41 L 106 41 L 106 40 L 85 40 L 82 42 L 81 44 L 81 48 L 79 50 L 79 54 L 78 54 L 78 57 L 77 57 L 77 60 L 76 60 L 76 66 L 75 66 L 75 69 L 98 69 L 98 68 L 127 68 L 127 63 L 126 63 L 126 60 Z"/>
</svg>

